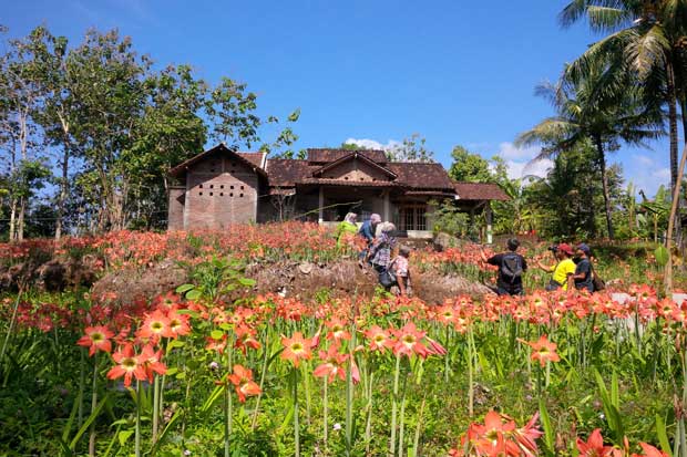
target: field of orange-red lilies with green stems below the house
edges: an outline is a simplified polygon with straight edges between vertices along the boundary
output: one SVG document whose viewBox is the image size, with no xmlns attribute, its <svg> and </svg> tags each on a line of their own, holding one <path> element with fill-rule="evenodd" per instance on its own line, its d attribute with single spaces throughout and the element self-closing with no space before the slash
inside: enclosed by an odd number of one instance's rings
<svg viewBox="0 0 687 457">
<path fill-rule="evenodd" d="M 540 292 L 543 278 L 517 299 L 301 301 L 256 295 L 242 274 L 349 249 L 297 224 L 1 246 L 12 264 L 93 255 L 103 271 L 173 258 L 195 280 L 116 305 L 83 290 L 6 294 L 0 454 L 687 454 L 687 304 L 657 295 L 650 266 L 622 277 L 624 303 Z M 411 268 L 492 277 L 474 249 Z M 244 292 L 227 302 L 229 290 Z"/>
</svg>

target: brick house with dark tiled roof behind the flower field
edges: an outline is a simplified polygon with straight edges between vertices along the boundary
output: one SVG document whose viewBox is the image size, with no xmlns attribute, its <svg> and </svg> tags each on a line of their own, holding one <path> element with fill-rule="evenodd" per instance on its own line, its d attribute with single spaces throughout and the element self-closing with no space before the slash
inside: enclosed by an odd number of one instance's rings
<svg viewBox="0 0 687 457">
<path fill-rule="evenodd" d="M 453 181 L 441 164 L 388 162 L 382 150 L 308 149 L 305 159 L 267 158 L 221 144 L 170 172 L 168 229 L 219 229 L 298 218 L 336 225 L 372 212 L 408 237 L 431 236 L 431 201 L 470 212 L 507 196 L 496 185 Z"/>
</svg>

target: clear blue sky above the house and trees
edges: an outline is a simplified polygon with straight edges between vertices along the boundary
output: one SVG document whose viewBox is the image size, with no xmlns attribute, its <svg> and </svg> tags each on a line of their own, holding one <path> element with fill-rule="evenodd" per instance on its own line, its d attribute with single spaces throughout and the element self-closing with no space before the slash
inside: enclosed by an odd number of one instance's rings
<svg viewBox="0 0 687 457">
<path fill-rule="evenodd" d="M 488 158 L 500 154 L 517 176 L 536 149 L 517 149 L 513 139 L 552 114 L 534 86 L 598 39 L 585 24 L 561 29 L 564 4 L 0 0 L 0 23 L 11 37 L 43 23 L 73 44 L 89 27 L 117 28 L 161 65 L 188 63 L 211 82 L 247 83 L 263 115 L 299 107 L 297 148 L 388 145 L 418 133 L 444 166 L 460 144 Z M 653 150 L 624 147 L 612 160 L 648 195 L 669 180 L 665 141 Z"/>
</svg>

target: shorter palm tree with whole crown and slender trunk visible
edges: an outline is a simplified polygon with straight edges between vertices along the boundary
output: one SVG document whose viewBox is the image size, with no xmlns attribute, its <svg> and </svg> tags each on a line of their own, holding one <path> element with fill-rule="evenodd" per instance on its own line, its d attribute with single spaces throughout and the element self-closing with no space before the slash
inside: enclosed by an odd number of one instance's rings
<svg viewBox="0 0 687 457">
<path fill-rule="evenodd" d="M 587 65 L 586 77 L 564 76 L 555 85 L 540 85 L 536 93 L 551 101 L 556 115 L 522 133 L 515 141 L 519 146 L 544 146 L 534 160 L 592 142 L 602 176 L 608 238 L 614 238 L 614 230 L 606 152 L 617 149 L 619 139 L 637 145 L 662 134 L 656 110 L 642 103 L 642 90 L 628 84 L 628 73 L 619 72 L 617 64 L 599 60 L 594 66 Z"/>
</svg>

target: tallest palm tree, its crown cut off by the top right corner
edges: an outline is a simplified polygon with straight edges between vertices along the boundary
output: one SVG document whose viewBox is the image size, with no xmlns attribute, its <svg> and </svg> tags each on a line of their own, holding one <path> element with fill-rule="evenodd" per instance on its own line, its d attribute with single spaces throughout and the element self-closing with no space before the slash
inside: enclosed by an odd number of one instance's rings
<svg viewBox="0 0 687 457">
<path fill-rule="evenodd" d="M 642 84 L 652 87 L 645 91 L 653 98 L 649 103 L 668 107 L 670 187 L 675 190 L 680 185 L 677 105 L 687 133 L 687 0 L 573 0 L 560 21 L 567 27 L 584 17 L 593 31 L 609 34 L 570 65 L 568 76 L 584 75 L 589 62 L 604 56 L 627 63 Z"/>
</svg>

